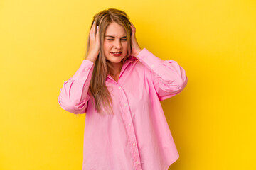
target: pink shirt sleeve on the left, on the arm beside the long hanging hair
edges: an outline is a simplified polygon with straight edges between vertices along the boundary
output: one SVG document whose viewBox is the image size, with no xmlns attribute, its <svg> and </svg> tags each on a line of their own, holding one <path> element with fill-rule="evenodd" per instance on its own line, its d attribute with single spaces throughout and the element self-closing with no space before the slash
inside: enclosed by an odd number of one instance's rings
<svg viewBox="0 0 256 170">
<path fill-rule="evenodd" d="M 60 88 L 58 103 L 60 107 L 70 113 L 85 113 L 90 99 L 88 89 L 92 78 L 93 62 L 83 60 L 73 77 L 64 81 Z"/>
</svg>

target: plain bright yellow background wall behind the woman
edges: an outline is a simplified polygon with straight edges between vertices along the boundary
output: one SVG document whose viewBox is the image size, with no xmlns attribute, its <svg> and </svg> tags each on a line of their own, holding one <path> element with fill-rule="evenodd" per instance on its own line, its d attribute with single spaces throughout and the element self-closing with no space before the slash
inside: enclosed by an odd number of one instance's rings
<svg viewBox="0 0 256 170">
<path fill-rule="evenodd" d="M 127 12 L 142 48 L 186 70 L 186 88 L 161 101 L 180 154 L 169 169 L 256 169 L 253 0 L 1 0 L 0 169 L 82 169 L 85 116 L 58 95 L 107 8 Z"/>
</svg>

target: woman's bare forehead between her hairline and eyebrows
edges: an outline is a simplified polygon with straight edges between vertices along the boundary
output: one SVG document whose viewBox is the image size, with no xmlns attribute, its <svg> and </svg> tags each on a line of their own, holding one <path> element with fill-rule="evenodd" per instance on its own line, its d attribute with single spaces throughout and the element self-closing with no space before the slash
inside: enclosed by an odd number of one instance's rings
<svg viewBox="0 0 256 170">
<path fill-rule="evenodd" d="M 110 23 L 109 26 L 107 26 L 105 35 L 112 35 L 114 37 L 122 37 L 127 34 L 126 34 L 123 26 L 119 25 L 118 23 L 113 22 L 113 23 Z"/>
</svg>

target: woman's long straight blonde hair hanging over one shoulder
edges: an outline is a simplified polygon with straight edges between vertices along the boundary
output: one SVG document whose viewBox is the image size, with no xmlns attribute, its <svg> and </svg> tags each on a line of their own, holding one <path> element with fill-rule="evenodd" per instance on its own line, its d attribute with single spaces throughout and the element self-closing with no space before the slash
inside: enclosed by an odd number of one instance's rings
<svg viewBox="0 0 256 170">
<path fill-rule="evenodd" d="M 118 10 L 116 8 L 108 8 L 107 10 L 100 11 L 93 16 L 93 21 L 95 21 L 96 26 L 99 26 L 99 35 L 100 35 L 100 52 L 95 61 L 95 65 L 92 72 L 92 78 L 90 81 L 90 93 L 94 98 L 95 108 L 100 115 L 105 115 L 105 113 L 114 114 L 112 110 L 112 98 L 110 95 L 110 91 L 108 91 L 105 81 L 107 79 L 107 75 L 112 72 L 113 67 L 110 64 L 110 61 L 106 60 L 103 50 L 103 42 L 105 38 L 105 30 L 107 26 L 112 22 L 116 22 L 119 25 L 124 27 L 124 30 L 127 33 L 127 46 L 128 52 L 127 56 L 124 57 L 122 63 L 127 60 L 129 54 L 131 54 L 131 35 L 132 29 L 130 28 L 129 16 L 124 11 Z M 92 28 L 93 25 L 90 26 Z M 87 50 L 86 55 L 88 55 L 88 50 L 90 47 L 90 35 L 88 35 L 87 40 Z M 105 111 L 104 111 L 105 110 Z"/>
</svg>

